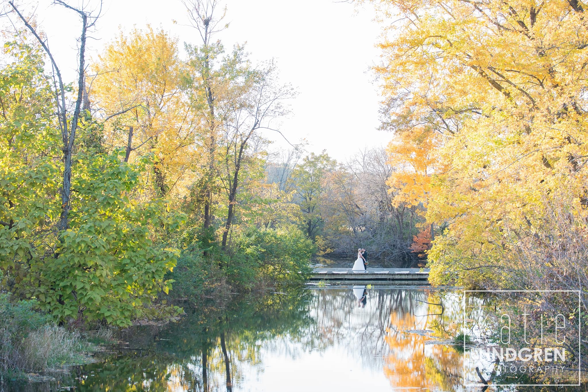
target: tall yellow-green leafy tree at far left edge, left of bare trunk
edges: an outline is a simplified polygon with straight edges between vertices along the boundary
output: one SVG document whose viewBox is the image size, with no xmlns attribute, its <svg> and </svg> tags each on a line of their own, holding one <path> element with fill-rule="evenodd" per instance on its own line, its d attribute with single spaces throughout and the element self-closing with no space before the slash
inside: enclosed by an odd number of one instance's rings
<svg viewBox="0 0 588 392">
<path fill-rule="evenodd" d="M 0 69 L 0 269 L 2 287 L 30 296 L 31 268 L 52 257 L 58 219 L 59 133 L 38 48 L 8 42 Z"/>
</svg>

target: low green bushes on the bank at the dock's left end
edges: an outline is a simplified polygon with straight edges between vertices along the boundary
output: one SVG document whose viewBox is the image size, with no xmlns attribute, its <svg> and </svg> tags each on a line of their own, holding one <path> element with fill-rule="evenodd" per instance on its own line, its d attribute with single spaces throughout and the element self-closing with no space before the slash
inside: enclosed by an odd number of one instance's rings
<svg viewBox="0 0 588 392">
<path fill-rule="evenodd" d="M 308 261 L 316 247 L 295 225 L 236 227 L 233 236 L 230 252 L 215 246 L 207 249 L 210 257 L 197 246 L 183 252 L 166 276 L 174 282 L 171 296 L 200 304 L 226 284 L 246 290 L 258 284 L 296 285 L 312 272 Z"/>
</svg>

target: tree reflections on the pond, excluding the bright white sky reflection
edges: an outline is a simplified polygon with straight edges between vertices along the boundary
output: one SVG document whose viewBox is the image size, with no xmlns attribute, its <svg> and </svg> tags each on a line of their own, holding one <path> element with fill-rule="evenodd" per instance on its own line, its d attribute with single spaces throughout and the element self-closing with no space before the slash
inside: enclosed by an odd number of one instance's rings
<svg viewBox="0 0 588 392">
<path fill-rule="evenodd" d="M 441 300 L 443 314 L 427 304 Z M 418 289 L 368 290 L 365 307 L 350 288 L 246 296 L 163 330 L 129 335 L 125 341 L 136 350 L 83 367 L 78 388 L 232 391 L 247 387 L 251 371 L 263 372 L 268 354 L 297 359 L 335 348 L 382 371 L 393 386 L 450 390 L 461 383 L 460 354 L 406 331 L 455 329 L 459 301 Z"/>
</svg>

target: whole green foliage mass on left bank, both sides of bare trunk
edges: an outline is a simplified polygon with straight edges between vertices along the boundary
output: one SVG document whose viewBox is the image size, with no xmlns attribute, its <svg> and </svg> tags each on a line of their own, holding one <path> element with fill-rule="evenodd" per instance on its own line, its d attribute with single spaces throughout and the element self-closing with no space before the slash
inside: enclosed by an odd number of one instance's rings
<svg viewBox="0 0 588 392">
<path fill-rule="evenodd" d="M 8 43 L 11 63 L 0 69 L 1 287 L 66 321 L 105 320 L 128 326 L 143 316 L 178 251 L 153 243 L 155 228 L 176 230 L 182 216 L 163 200 L 139 202 L 147 155 L 122 162 L 105 152 L 101 125 L 81 120 L 72 159 L 68 229 L 58 229 L 62 208 L 59 127 L 44 62 L 30 45 Z"/>
</svg>

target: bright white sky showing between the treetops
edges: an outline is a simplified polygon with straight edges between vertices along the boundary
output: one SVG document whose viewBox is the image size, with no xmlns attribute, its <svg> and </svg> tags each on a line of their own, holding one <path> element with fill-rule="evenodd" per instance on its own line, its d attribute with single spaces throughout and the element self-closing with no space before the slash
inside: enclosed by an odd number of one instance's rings
<svg viewBox="0 0 588 392">
<path fill-rule="evenodd" d="M 36 7 L 38 24 L 47 33 L 62 72 L 73 79 L 79 19 L 49 0 L 16 2 L 28 13 Z M 380 29 L 369 6 L 332 0 L 225 0 L 223 4 L 230 26 L 218 38 L 229 48 L 246 42 L 254 62 L 275 58 L 280 81 L 292 83 L 298 91 L 292 113 L 279 126 L 291 142 L 306 139 L 308 150 L 326 149 L 339 161 L 389 142 L 392 135 L 377 130 L 381 98 L 370 66 L 378 61 L 375 43 Z M 89 57 L 118 33 L 119 26 L 130 31 L 151 24 L 178 36 L 181 43 L 199 42 L 197 32 L 183 26 L 188 19 L 179 0 L 104 0 L 102 15 L 92 33 L 97 39 L 88 41 Z M 273 149 L 288 148 L 276 133 L 268 131 L 266 137 L 275 140 Z"/>
</svg>

